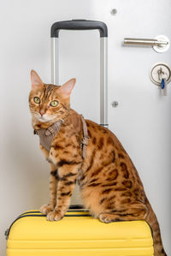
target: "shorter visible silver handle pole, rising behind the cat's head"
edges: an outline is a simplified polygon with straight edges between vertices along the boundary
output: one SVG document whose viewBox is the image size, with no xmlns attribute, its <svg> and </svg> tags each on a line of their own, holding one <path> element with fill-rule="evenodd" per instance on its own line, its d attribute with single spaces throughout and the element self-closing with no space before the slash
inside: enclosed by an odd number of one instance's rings
<svg viewBox="0 0 171 256">
<path fill-rule="evenodd" d="M 51 38 L 51 83 L 59 84 L 59 43 L 58 38 Z"/>
</svg>

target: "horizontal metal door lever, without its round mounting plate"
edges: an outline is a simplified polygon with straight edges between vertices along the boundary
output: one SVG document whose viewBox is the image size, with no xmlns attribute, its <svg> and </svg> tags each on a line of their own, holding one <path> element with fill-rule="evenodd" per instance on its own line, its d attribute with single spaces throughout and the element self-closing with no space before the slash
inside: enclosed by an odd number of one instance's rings
<svg viewBox="0 0 171 256">
<path fill-rule="evenodd" d="M 168 45 L 168 41 L 157 39 L 124 39 L 124 45 L 146 45 L 146 46 L 163 46 Z"/>
</svg>

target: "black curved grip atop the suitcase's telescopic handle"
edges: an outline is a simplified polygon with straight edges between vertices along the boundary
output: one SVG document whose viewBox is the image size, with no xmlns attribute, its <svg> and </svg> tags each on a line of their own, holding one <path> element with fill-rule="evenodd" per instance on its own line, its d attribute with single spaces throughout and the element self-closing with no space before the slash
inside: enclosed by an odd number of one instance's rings
<svg viewBox="0 0 171 256">
<path fill-rule="evenodd" d="M 51 38 L 58 38 L 60 29 L 68 30 L 91 30 L 98 29 L 101 38 L 108 37 L 108 27 L 102 21 L 72 20 L 57 21 L 51 26 Z"/>
</svg>

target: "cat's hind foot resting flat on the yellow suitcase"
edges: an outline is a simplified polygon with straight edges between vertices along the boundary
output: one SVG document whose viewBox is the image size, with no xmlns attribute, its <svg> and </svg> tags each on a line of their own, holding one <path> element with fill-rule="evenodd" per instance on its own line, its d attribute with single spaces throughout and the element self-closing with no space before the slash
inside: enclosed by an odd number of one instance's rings
<svg viewBox="0 0 171 256">
<path fill-rule="evenodd" d="M 115 221 L 144 220 L 147 214 L 147 207 L 141 202 L 135 202 L 125 209 L 103 211 L 98 218 L 103 223 L 111 223 Z"/>
</svg>

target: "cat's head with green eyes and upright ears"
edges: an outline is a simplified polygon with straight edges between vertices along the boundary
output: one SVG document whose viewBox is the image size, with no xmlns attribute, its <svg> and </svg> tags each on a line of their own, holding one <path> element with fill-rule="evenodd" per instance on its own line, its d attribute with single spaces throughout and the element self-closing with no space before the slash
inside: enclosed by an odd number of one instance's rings
<svg viewBox="0 0 171 256">
<path fill-rule="evenodd" d="M 34 120 L 56 122 L 67 116 L 70 109 L 70 94 L 74 88 L 75 79 L 68 80 L 62 86 L 44 84 L 38 74 L 32 70 L 31 81 L 29 107 Z"/>
</svg>

